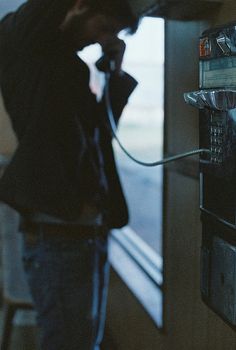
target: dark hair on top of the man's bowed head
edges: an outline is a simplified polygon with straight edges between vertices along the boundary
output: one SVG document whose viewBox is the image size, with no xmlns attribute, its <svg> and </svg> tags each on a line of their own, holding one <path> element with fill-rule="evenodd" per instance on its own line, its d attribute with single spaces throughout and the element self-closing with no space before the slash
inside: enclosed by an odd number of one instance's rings
<svg viewBox="0 0 236 350">
<path fill-rule="evenodd" d="M 129 34 L 134 34 L 139 25 L 137 19 L 131 12 L 125 0 L 87 0 L 91 10 L 110 15 L 122 23 Z"/>
</svg>

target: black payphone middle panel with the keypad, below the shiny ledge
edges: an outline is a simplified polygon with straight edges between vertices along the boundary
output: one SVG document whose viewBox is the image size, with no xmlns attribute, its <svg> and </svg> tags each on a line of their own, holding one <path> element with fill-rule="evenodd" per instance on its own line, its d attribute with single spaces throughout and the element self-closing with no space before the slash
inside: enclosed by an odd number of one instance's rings
<svg viewBox="0 0 236 350">
<path fill-rule="evenodd" d="M 236 229 L 236 109 L 201 110 L 200 208 Z M 204 145 L 204 146 L 203 146 Z"/>
</svg>

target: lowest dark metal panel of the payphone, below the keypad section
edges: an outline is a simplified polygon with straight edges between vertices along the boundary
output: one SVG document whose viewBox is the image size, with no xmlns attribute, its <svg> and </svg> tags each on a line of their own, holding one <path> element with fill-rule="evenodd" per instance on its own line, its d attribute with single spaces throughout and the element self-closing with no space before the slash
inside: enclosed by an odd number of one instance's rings
<svg viewBox="0 0 236 350">
<path fill-rule="evenodd" d="M 204 214 L 202 221 L 202 298 L 226 322 L 236 327 L 235 231 Z"/>
</svg>

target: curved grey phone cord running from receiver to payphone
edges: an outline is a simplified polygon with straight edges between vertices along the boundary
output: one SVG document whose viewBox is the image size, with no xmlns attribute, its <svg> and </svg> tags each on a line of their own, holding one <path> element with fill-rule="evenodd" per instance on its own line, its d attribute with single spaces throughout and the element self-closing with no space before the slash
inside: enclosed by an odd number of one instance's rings
<svg viewBox="0 0 236 350">
<path fill-rule="evenodd" d="M 112 135 L 114 137 L 114 139 L 116 140 L 116 142 L 118 143 L 118 145 L 120 146 L 120 148 L 122 149 L 122 151 L 127 155 L 127 157 L 129 157 L 131 160 L 133 160 L 135 163 L 139 164 L 139 165 L 143 165 L 146 167 L 154 167 L 154 166 L 158 166 L 158 165 L 162 165 L 162 164 L 166 164 L 169 162 L 173 162 L 175 160 L 178 159 L 182 159 L 182 158 L 186 158 L 186 157 L 190 157 L 196 154 L 200 154 L 200 153 L 208 153 L 210 154 L 211 151 L 205 148 L 200 148 L 197 150 L 193 150 L 190 152 L 185 152 L 185 153 L 181 153 L 178 154 L 176 156 L 171 156 L 171 157 L 167 157 L 155 162 L 144 162 L 141 161 L 139 159 L 136 159 L 135 157 L 132 156 L 132 154 L 130 154 L 126 148 L 122 145 L 122 143 L 120 142 L 118 136 L 116 135 L 116 123 L 114 120 L 114 115 L 113 115 L 113 111 L 112 111 L 112 107 L 111 107 L 111 99 L 110 99 L 110 93 L 109 93 L 109 88 L 110 88 L 110 73 L 106 73 L 105 74 L 105 78 L 106 78 L 106 83 L 105 83 L 105 101 L 106 101 L 106 107 L 107 107 L 107 114 L 108 114 L 108 119 L 110 122 L 110 127 L 111 127 L 111 132 Z"/>
</svg>

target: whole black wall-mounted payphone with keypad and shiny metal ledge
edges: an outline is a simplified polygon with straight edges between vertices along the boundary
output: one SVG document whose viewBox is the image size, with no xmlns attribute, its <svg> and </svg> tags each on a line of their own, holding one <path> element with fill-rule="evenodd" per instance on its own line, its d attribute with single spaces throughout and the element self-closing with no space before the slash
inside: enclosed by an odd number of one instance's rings
<svg viewBox="0 0 236 350">
<path fill-rule="evenodd" d="M 236 23 L 200 38 L 199 108 L 201 294 L 236 329 Z"/>
</svg>

